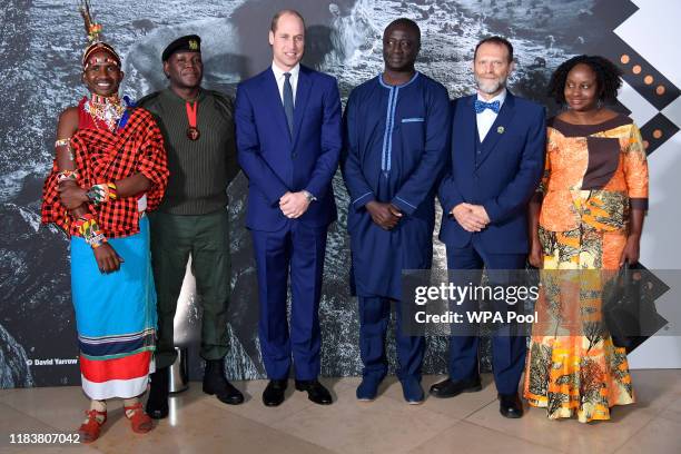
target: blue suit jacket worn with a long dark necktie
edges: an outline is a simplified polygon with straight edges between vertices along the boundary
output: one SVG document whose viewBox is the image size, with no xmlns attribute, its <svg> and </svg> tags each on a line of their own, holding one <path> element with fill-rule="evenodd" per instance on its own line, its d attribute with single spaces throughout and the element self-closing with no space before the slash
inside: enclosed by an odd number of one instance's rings
<svg viewBox="0 0 681 454">
<path fill-rule="evenodd" d="M 277 231 L 290 221 L 279 208 L 287 191 L 317 198 L 299 221 L 312 227 L 336 219 L 332 179 L 343 146 L 336 79 L 300 66 L 293 135 L 272 67 L 238 86 L 236 140 L 248 177 L 246 226 Z"/>
</svg>

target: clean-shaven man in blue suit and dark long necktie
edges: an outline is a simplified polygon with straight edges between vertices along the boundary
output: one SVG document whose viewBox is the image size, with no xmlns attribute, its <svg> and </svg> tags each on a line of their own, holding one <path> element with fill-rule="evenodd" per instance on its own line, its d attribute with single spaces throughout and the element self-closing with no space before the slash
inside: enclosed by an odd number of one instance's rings
<svg viewBox="0 0 681 454">
<path fill-rule="evenodd" d="M 258 273 L 260 352 L 267 406 L 284 402 L 292 355 L 296 389 L 328 405 L 318 382 L 319 298 L 326 233 L 336 219 L 332 178 L 343 145 L 336 79 L 300 65 L 305 23 L 279 11 L 269 31 L 272 67 L 241 82 L 236 99 L 239 164 L 248 177 L 246 226 Z M 288 329 L 286 297 L 290 273 Z"/>
</svg>

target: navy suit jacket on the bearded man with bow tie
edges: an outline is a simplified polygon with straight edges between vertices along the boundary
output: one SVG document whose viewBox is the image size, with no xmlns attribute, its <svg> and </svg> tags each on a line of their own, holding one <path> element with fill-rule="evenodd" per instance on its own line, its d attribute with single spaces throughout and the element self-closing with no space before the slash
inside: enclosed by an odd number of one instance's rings
<svg viewBox="0 0 681 454">
<path fill-rule="evenodd" d="M 476 236 L 488 254 L 527 253 L 527 203 L 544 171 L 544 108 L 506 92 L 506 99 L 480 142 L 476 96 L 452 101 L 452 146 L 440 184 L 443 208 L 440 239 L 463 248 Z M 490 225 L 468 233 L 450 215 L 461 203 L 482 205 Z"/>
</svg>

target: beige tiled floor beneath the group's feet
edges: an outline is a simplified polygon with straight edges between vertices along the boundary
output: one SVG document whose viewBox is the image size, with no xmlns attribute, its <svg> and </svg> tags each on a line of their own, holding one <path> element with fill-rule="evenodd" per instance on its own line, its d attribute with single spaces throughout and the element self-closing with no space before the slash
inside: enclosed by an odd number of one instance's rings
<svg viewBox="0 0 681 454">
<path fill-rule="evenodd" d="M 613 420 L 550 421 L 529 408 L 521 420 L 499 414 L 487 374 L 480 393 L 407 405 L 395 378 L 372 403 L 357 402 L 358 378 L 324 379 L 335 403 L 318 406 L 289 386 L 277 408 L 261 404 L 264 381 L 236 385 L 239 406 L 201 393 L 199 383 L 171 398 L 171 414 L 147 435 L 131 433 L 120 402 L 109 403 L 100 440 L 88 446 L 17 446 L 0 453 L 681 453 L 681 371 L 634 371 L 639 403 L 615 407 Z M 424 378 L 424 388 L 441 379 Z M 79 387 L 0 389 L 0 435 L 72 431 L 88 401 Z"/>
</svg>

